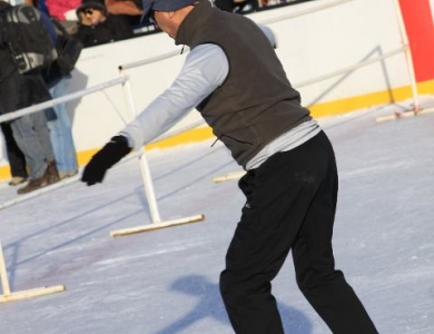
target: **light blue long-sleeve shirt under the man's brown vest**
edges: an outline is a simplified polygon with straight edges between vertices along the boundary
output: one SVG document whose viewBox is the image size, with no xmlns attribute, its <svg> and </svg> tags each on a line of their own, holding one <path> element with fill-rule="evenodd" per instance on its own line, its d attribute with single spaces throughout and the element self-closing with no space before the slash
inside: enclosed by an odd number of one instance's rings
<svg viewBox="0 0 434 334">
<path fill-rule="evenodd" d="M 276 45 L 274 33 L 265 26 L 259 26 L 264 33 Z M 149 104 L 135 120 L 128 124 L 120 135 L 128 138 L 132 149 L 170 129 L 193 108 L 223 85 L 229 72 L 229 62 L 224 50 L 211 43 L 194 48 L 186 57 L 184 67 L 174 84 Z M 315 120 L 309 120 L 280 135 L 267 144 L 246 165 L 246 169 L 257 168 L 277 151 L 293 149 L 319 132 Z"/>
</svg>

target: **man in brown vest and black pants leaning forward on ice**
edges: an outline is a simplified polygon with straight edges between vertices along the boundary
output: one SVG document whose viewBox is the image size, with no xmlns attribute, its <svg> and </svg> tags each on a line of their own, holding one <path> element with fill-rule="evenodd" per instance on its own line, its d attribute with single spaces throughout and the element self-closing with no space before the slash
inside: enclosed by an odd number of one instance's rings
<svg viewBox="0 0 434 334">
<path fill-rule="evenodd" d="M 377 333 L 335 268 L 333 147 L 302 107 L 273 42 L 251 20 L 205 0 L 144 0 L 144 12 L 191 51 L 171 87 L 92 157 L 82 181 L 101 183 L 131 149 L 196 107 L 247 170 L 239 180 L 247 200 L 220 275 L 235 332 L 284 333 L 272 281 L 292 252 L 300 291 L 333 333 Z"/>
</svg>

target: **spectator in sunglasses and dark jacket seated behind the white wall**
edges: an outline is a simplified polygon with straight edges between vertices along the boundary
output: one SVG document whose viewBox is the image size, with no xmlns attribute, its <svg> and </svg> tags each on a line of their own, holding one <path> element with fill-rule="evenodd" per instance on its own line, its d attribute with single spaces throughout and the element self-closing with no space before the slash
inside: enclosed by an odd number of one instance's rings
<svg viewBox="0 0 434 334">
<path fill-rule="evenodd" d="M 110 14 L 103 1 L 83 0 L 77 9 L 77 38 L 85 47 L 108 43 L 132 37 L 132 28 L 124 16 Z"/>
</svg>

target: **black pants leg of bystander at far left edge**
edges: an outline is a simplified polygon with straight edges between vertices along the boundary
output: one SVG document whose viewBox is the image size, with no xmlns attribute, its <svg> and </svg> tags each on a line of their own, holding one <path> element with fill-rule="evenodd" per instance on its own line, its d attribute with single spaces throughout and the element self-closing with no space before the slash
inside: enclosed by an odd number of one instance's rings
<svg viewBox="0 0 434 334">
<path fill-rule="evenodd" d="M 2 122 L 1 130 L 4 137 L 6 150 L 8 155 L 10 174 L 12 177 L 27 178 L 26 158 L 21 149 L 18 147 L 16 139 L 13 138 L 12 129 L 9 124 Z"/>
</svg>

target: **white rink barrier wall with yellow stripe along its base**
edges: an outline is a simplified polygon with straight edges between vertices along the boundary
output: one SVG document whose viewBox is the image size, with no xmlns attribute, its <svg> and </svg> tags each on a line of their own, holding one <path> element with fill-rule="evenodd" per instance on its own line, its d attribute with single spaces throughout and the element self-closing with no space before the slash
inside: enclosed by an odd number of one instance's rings
<svg viewBox="0 0 434 334">
<path fill-rule="evenodd" d="M 412 97 L 394 0 L 316 0 L 248 17 L 273 29 L 278 43 L 276 52 L 289 80 L 300 91 L 303 105 L 309 107 L 315 117 Z M 174 56 L 180 50 L 181 46 L 175 46 L 162 32 L 83 49 L 72 72 L 69 92 L 119 78 L 119 66 L 170 55 L 159 61 L 125 69 L 132 102 L 139 112 L 171 85 L 180 71 L 186 55 Z M 388 53 L 393 55 L 382 58 Z M 375 58 L 382 59 L 375 61 Z M 373 61 L 369 63 L 369 60 Z M 347 71 L 324 79 L 342 69 Z M 297 86 L 316 78 L 320 80 Z M 422 87 L 423 92 L 424 87 L 426 85 Z M 418 88 L 421 90 L 420 82 Z M 428 88 L 432 88 L 431 84 Z M 68 102 L 80 165 L 124 127 L 125 119 L 129 119 L 128 105 L 120 86 Z M 170 131 L 191 128 L 200 122 L 199 119 L 198 112 L 193 110 Z M 147 148 L 210 136 L 210 129 L 201 126 Z M 9 168 L 2 140 L 0 179 L 6 179 Z"/>
</svg>

